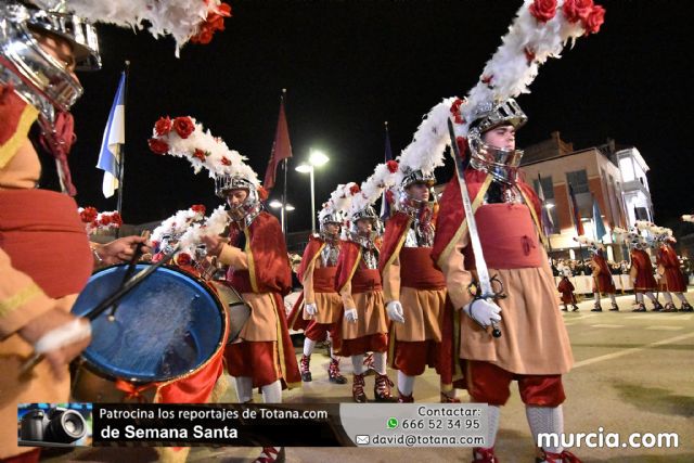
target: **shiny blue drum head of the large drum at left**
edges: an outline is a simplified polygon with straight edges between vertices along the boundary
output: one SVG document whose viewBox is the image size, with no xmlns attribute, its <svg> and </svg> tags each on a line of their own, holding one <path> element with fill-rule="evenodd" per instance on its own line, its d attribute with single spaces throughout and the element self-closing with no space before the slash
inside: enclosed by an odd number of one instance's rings
<svg viewBox="0 0 694 463">
<path fill-rule="evenodd" d="M 136 272 L 147 268 L 138 265 Z M 113 294 L 127 266 L 94 273 L 73 313 L 83 316 Z M 92 321 L 82 352 L 88 365 L 111 378 L 164 382 L 191 373 L 223 343 L 226 316 L 219 299 L 196 278 L 160 267 L 117 305 Z"/>
</svg>

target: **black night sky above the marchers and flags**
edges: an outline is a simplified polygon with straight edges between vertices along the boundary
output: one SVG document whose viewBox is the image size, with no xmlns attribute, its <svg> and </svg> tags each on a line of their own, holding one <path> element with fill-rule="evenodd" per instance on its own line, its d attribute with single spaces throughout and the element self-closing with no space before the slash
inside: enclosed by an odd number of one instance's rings
<svg viewBox="0 0 694 463">
<path fill-rule="evenodd" d="M 523 147 L 558 130 L 582 149 L 613 138 L 651 167 L 656 222 L 694 213 L 690 202 L 694 44 L 673 2 L 603 1 L 597 35 L 541 67 L 517 100 L 529 117 Z M 677 3 L 679 4 L 679 3 Z M 191 115 L 249 158 L 260 179 L 274 138 L 281 90 L 294 158 L 290 231 L 310 228 L 308 176 L 294 171 L 311 147 L 331 162 L 316 172 L 317 207 L 337 183 L 363 181 L 383 162 L 384 121 L 394 155 L 442 98 L 463 97 L 505 34 L 520 1 L 232 1 L 227 30 L 174 55 L 170 38 L 99 26 L 103 69 L 81 74 L 70 155 L 78 204 L 116 207 L 94 168 L 119 73 L 130 60 L 124 217 L 160 220 L 191 204 L 217 206 L 213 180 L 184 159 L 156 156 L 146 140 L 158 117 Z M 442 170 L 439 180 L 450 173 Z M 281 187 L 281 183 L 280 183 Z M 280 194 L 280 189 L 272 196 Z"/>
</svg>

